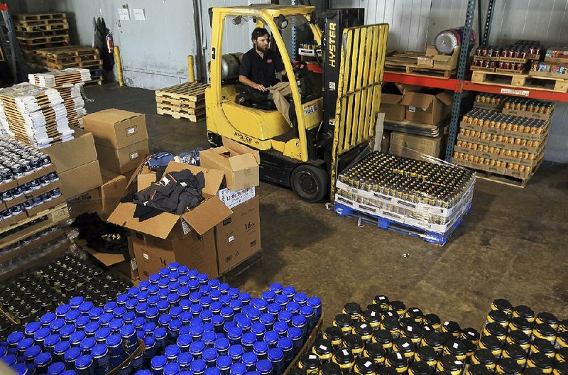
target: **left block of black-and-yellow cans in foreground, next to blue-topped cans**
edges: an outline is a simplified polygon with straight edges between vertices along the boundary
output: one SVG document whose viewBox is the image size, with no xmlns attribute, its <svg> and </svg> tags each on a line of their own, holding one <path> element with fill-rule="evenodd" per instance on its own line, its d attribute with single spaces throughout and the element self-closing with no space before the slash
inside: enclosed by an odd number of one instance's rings
<svg viewBox="0 0 568 375">
<path fill-rule="evenodd" d="M 377 295 L 365 310 L 347 303 L 294 374 L 458 375 L 478 340 L 473 328 Z"/>
</svg>

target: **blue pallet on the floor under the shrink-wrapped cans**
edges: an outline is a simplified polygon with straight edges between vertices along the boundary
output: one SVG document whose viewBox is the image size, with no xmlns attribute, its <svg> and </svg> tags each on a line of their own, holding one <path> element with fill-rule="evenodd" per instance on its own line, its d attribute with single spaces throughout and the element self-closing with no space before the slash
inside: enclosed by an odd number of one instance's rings
<svg viewBox="0 0 568 375">
<path fill-rule="evenodd" d="M 386 217 L 368 214 L 366 212 L 360 212 L 355 210 L 354 208 L 342 205 L 342 203 L 335 203 L 334 211 L 336 214 L 342 217 L 351 217 L 351 219 L 358 219 L 361 222 L 376 225 L 377 227 L 382 229 L 388 229 L 401 234 L 408 234 L 413 237 L 420 237 L 424 241 L 443 246 L 444 244 L 446 244 L 449 238 L 452 237 L 452 234 L 456 232 L 456 229 L 461 225 L 461 222 L 464 220 L 464 217 L 466 217 L 466 214 L 469 214 L 469 211 L 471 211 L 471 205 L 467 207 L 466 212 L 459 219 L 457 219 L 457 222 L 455 222 L 454 225 L 452 225 L 452 227 L 448 229 L 444 234 L 430 232 L 427 229 L 413 227 L 412 225 L 396 222 L 392 219 L 386 219 Z"/>
</svg>

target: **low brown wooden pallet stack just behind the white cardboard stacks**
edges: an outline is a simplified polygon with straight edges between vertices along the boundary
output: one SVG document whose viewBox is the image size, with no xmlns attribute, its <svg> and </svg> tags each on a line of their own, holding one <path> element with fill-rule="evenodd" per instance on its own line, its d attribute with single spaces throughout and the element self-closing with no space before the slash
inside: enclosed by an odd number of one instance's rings
<svg viewBox="0 0 568 375">
<path fill-rule="evenodd" d="M 89 82 L 102 85 L 102 60 L 97 48 L 82 45 L 44 48 L 36 51 L 41 64 L 48 70 L 80 67 L 91 72 Z"/>
</svg>

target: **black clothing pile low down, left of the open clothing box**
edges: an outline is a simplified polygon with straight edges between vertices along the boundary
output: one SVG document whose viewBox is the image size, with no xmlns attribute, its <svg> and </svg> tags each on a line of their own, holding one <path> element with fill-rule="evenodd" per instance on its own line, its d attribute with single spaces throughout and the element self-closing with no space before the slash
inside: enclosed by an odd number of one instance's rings
<svg viewBox="0 0 568 375">
<path fill-rule="evenodd" d="M 71 224 L 79 230 L 79 238 L 87 241 L 89 248 L 101 253 L 123 254 L 130 260 L 129 232 L 118 225 L 104 222 L 98 214 L 80 214 Z"/>
</svg>

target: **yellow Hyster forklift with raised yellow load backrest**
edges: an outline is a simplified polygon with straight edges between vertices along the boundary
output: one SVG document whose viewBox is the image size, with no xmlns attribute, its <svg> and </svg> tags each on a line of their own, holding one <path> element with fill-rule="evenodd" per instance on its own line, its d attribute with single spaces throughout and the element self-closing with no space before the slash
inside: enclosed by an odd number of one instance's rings
<svg viewBox="0 0 568 375">
<path fill-rule="evenodd" d="M 388 24 L 359 26 L 364 22 L 363 9 L 316 13 L 314 6 L 274 4 L 212 8 L 209 19 L 211 85 L 205 91 L 209 143 L 220 146 L 226 137 L 256 148 L 263 180 L 291 187 L 308 202 L 328 194 L 333 200 L 337 174 L 369 152 L 381 98 Z M 222 50 L 224 34 L 248 22 L 268 28 L 271 48 L 283 57 L 292 91 L 293 128 L 270 99 L 239 83 L 242 55 Z M 300 48 L 300 55 L 311 54 L 320 69 L 290 61 L 283 33 L 287 35 L 291 26 L 307 33 L 313 48 Z"/>
</svg>

